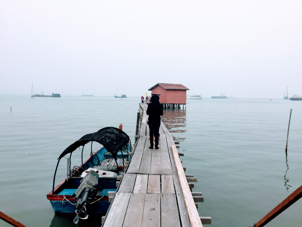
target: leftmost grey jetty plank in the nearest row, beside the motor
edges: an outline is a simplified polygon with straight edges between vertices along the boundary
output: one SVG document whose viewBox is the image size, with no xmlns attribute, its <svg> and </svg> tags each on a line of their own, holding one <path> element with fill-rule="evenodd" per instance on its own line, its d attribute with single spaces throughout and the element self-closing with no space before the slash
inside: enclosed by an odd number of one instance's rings
<svg viewBox="0 0 302 227">
<path fill-rule="evenodd" d="M 130 193 L 116 194 L 103 227 L 121 227 L 123 225 L 130 195 Z"/>
</svg>

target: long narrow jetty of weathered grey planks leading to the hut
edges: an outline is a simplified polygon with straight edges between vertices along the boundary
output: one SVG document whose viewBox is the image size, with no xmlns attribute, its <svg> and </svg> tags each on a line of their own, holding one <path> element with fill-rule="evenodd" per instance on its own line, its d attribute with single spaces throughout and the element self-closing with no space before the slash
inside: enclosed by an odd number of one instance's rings
<svg viewBox="0 0 302 227">
<path fill-rule="evenodd" d="M 149 149 L 147 104 L 141 103 L 137 114 L 135 149 L 118 176 L 117 191 L 108 193 L 112 200 L 102 227 L 202 226 L 210 217 L 199 217 L 197 202 L 201 192 L 192 192 L 197 178 L 185 175 L 172 137 L 161 122 L 159 149 Z M 153 139 L 153 138 L 151 138 Z M 109 200 L 109 202 L 110 202 Z"/>
</svg>

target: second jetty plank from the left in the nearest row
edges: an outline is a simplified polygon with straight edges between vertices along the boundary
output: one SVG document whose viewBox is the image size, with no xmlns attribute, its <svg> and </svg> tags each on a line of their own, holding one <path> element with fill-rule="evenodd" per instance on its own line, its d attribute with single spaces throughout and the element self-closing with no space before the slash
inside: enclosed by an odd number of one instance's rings
<svg viewBox="0 0 302 227">
<path fill-rule="evenodd" d="M 142 225 L 145 193 L 131 194 L 123 227 L 140 227 Z"/>
</svg>

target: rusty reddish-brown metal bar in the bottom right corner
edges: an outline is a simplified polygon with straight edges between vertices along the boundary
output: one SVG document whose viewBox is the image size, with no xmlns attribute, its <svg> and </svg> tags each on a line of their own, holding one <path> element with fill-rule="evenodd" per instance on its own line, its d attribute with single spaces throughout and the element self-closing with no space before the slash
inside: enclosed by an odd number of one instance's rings
<svg viewBox="0 0 302 227">
<path fill-rule="evenodd" d="M 294 204 L 297 200 L 302 197 L 302 185 L 297 188 L 294 192 L 292 192 L 286 199 L 280 202 L 274 209 L 272 209 L 267 215 L 265 215 L 259 222 L 257 222 L 255 227 L 262 227 L 266 225 L 268 222 L 273 220 L 279 214 L 281 214 L 284 210 Z"/>
</svg>

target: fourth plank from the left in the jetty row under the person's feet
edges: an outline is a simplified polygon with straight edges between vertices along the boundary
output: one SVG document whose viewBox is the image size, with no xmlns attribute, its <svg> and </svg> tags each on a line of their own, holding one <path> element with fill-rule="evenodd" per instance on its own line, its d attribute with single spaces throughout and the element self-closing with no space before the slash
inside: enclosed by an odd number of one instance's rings
<svg viewBox="0 0 302 227">
<path fill-rule="evenodd" d="M 159 140 L 160 150 L 160 164 L 162 168 L 162 174 L 172 174 L 171 160 L 169 157 L 169 151 L 167 146 L 166 134 L 162 134 Z"/>
</svg>

